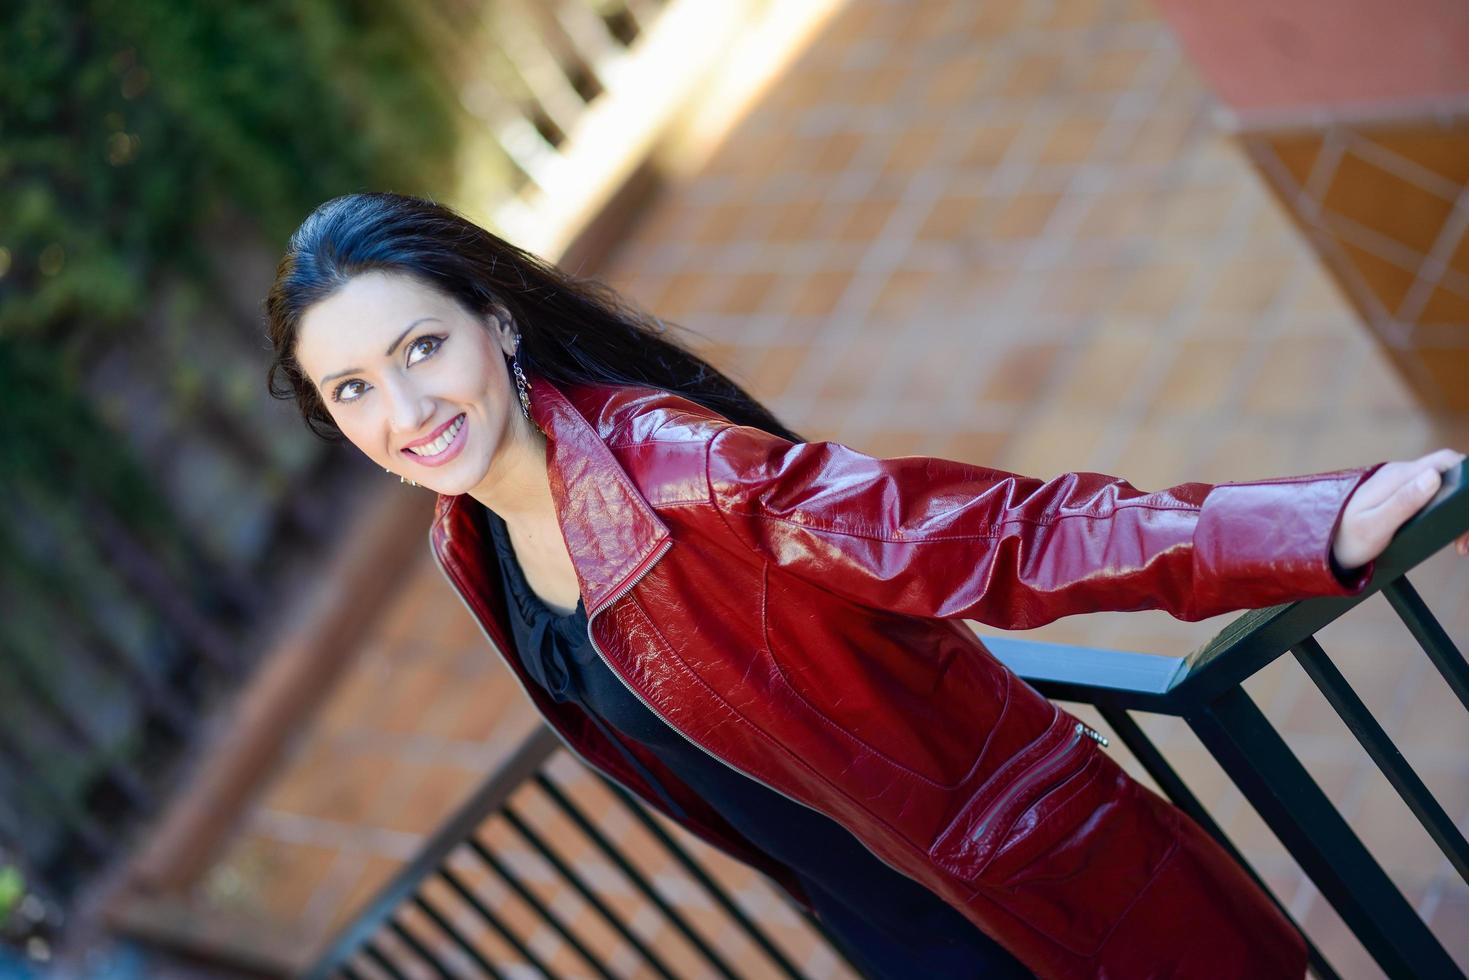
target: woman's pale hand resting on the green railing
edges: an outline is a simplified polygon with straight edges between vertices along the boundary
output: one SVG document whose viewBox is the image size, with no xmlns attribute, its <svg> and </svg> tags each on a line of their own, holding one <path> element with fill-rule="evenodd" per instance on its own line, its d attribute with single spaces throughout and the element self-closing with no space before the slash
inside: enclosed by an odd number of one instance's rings
<svg viewBox="0 0 1469 980">
<path fill-rule="evenodd" d="M 1347 500 L 1341 526 L 1331 542 L 1331 557 L 1350 573 L 1376 558 L 1407 523 L 1434 498 L 1441 473 L 1463 463 L 1457 450 L 1438 450 L 1416 460 L 1385 463 Z M 1454 551 L 1469 554 L 1469 533 L 1454 539 Z"/>
</svg>

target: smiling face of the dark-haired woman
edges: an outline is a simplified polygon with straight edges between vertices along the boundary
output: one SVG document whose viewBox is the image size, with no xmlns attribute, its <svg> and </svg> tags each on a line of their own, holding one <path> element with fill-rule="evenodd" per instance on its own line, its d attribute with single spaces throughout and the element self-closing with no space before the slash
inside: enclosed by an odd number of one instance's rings
<svg viewBox="0 0 1469 980">
<path fill-rule="evenodd" d="M 508 323 L 413 276 L 364 272 L 306 311 L 295 357 L 353 445 L 422 486 L 466 494 L 514 438 L 514 350 Z"/>
</svg>

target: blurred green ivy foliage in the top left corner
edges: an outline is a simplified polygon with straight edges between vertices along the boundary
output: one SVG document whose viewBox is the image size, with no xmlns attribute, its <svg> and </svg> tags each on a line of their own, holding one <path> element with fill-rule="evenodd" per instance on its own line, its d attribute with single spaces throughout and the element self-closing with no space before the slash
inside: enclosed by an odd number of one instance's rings
<svg viewBox="0 0 1469 980">
<path fill-rule="evenodd" d="M 10 4 L 7 4 L 10 6 Z M 0 335 L 116 328 L 228 203 L 433 192 L 454 100 L 398 4 L 24 0 L 0 31 Z"/>
</svg>

